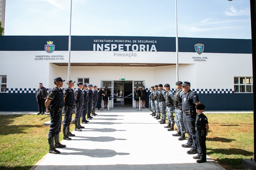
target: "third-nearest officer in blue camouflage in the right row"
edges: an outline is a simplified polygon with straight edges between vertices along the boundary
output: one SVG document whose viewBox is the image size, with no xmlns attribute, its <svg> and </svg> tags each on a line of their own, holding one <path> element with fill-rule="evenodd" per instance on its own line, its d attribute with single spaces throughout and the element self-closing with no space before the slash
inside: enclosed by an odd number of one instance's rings
<svg viewBox="0 0 256 170">
<path fill-rule="evenodd" d="M 160 122 L 160 124 L 165 124 L 165 118 L 166 118 L 165 93 L 166 91 L 163 89 L 162 84 L 159 84 L 158 88 L 160 91 L 157 97 L 158 97 L 160 112 L 162 113 L 161 120 L 158 122 Z"/>
</svg>

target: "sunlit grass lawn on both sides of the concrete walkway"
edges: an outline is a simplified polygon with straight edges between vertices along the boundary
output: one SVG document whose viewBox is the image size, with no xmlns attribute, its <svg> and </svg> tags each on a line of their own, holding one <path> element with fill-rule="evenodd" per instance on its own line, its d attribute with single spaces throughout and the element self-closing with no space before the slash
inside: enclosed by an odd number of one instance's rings
<svg viewBox="0 0 256 170">
<path fill-rule="evenodd" d="M 242 169 L 242 159 L 254 157 L 253 114 L 205 115 L 207 154 L 225 169 Z M 48 153 L 49 126 L 42 124 L 49 120 L 48 115 L 0 115 L 1 170 L 28 170 Z"/>
</svg>

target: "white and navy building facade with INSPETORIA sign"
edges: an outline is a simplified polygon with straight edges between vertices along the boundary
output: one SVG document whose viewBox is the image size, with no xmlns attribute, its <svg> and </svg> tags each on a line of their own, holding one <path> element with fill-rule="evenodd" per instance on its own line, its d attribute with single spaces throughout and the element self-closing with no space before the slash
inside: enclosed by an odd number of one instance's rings
<svg viewBox="0 0 256 170">
<path fill-rule="evenodd" d="M 134 107 L 142 85 L 176 83 L 175 37 L 71 36 L 70 79 L 111 90 Z M 68 78 L 68 36 L 0 36 L 0 111 L 37 111 L 38 84 Z M 179 80 L 212 111 L 253 110 L 251 40 L 179 38 Z M 77 86 L 75 85 L 74 88 Z M 146 107 L 149 106 L 148 99 Z"/>
</svg>

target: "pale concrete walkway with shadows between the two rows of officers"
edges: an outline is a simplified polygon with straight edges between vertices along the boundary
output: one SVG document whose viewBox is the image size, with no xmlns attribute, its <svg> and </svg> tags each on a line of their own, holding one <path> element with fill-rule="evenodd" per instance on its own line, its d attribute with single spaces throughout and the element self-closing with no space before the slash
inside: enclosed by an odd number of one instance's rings
<svg viewBox="0 0 256 170">
<path fill-rule="evenodd" d="M 195 155 L 186 154 L 190 148 L 181 147 L 186 140 L 172 136 L 176 131 L 167 131 L 164 124 L 149 115 L 150 110 L 110 110 L 97 110 L 98 116 L 82 124 L 85 126 L 82 132 L 73 131 L 76 136 L 72 140 L 61 141 L 67 145 L 58 148 L 61 154 L 46 154 L 31 169 L 224 169 L 210 157 L 207 163 L 196 163 L 192 158 Z"/>
</svg>

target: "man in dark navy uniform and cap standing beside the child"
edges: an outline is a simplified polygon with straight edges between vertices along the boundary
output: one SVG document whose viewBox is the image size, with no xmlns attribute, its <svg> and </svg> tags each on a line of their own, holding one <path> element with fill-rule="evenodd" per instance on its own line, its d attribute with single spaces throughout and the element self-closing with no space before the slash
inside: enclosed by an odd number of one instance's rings
<svg viewBox="0 0 256 170">
<path fill-rule="evenodd" d="M 187 151 L 187 154 L 197 154 L 198 151 L 195 139 L 195 106 L 200 102 L 198 95 L 190 90 L 190 82 L 183 82 L 181 86 L 182 90 L 185 92 L 185 94 L 182 96 L 183 121 L 185 129 L 189 135 L 188 142 L 186 144 L 182 144 L 181 146 L 183 148 L 191 147 L 191 149 Z"/>
</svg>

